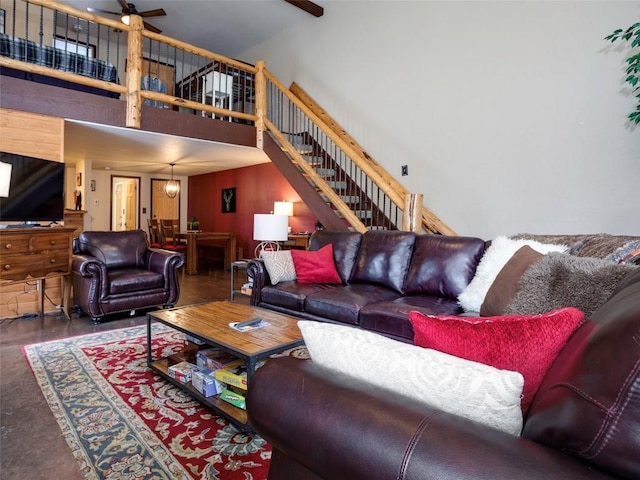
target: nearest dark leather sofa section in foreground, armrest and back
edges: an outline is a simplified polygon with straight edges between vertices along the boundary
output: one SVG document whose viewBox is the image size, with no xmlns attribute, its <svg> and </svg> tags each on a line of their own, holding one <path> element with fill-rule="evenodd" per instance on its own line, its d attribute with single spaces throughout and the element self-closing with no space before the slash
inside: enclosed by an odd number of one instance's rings
<svg viewBox="0 0 640 480">
<path fill-rule="evenodd" d="M 570 338 L 521 437 L 292 358 L 258 370 L 247 408 L 269 480 L 638 479 L 640 269 Z"/>
</svg>

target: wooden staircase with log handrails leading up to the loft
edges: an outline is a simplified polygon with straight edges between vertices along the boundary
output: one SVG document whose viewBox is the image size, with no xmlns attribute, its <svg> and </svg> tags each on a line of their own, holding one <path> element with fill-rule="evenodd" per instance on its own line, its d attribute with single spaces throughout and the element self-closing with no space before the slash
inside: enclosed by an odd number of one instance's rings
<svg viewBox="0 0 640 480">
<path fill-rule="evenodd" d="M 295 83 L 266 72 L 265 152 L 325 228 L 398 230 L 409 192 Z M 268 139 L 268 141 L 267 141 Z M 455 235 L 423 208 L 422 228 Z"/>
</svg>

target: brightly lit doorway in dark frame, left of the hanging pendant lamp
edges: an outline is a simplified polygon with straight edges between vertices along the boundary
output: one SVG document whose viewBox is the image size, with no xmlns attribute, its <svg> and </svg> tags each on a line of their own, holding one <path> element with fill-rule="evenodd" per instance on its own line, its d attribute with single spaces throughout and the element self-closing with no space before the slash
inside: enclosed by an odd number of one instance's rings
<svg viewBox="0 0 640 480">
<path fill-rule="evenodd" d="M 111 230 L 140 228 L 140 177 L 111 175 Z"/>
</svg>

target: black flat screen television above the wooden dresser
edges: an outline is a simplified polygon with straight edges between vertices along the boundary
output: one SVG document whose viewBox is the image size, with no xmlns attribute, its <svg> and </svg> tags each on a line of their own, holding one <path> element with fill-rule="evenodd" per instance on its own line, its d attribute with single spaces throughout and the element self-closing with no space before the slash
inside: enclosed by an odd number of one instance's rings
<svg viewBox="0 0 640 480">
<path fill-rule="evenodd" d="M 8 197 L 0 196 L 0 222 L 57 222 L 64 216 L 64 163 L 0 152 L 11 165 Z M 0 165 L 2 167 L 2 165 Z M 8 167 L 0 170 L 5 172 Z M 1 175 L 5 176 L 6 173 Z"/>
</svg>

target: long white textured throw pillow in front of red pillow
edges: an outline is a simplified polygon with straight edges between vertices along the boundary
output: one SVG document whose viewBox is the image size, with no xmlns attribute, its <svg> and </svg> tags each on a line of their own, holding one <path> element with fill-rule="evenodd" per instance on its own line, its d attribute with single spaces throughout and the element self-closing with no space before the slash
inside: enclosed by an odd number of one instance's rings
<svg viewBox="0 0 640 480">
<path fill-rule="evenodd" d="M 320 365 L 513 435 L 522 430 L 520 373 L 358 328 L 306 320 L 298 326 Z"/>
</svg>

